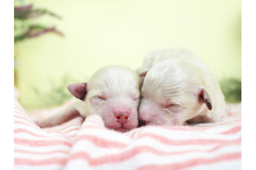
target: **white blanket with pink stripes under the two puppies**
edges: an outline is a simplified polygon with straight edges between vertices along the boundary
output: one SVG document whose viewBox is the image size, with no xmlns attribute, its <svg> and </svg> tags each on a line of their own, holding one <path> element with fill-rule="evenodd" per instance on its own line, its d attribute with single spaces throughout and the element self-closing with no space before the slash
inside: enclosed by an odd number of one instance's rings
<svg viewBox="0 0 256 170">
<path fill-rule="evenodd" d="M 40 129 L 16 101 L 15 169 L 241 169 L 241 105 L 228 107 L 217 123 L 120 133 L 96 115 Z"/>
</svg>

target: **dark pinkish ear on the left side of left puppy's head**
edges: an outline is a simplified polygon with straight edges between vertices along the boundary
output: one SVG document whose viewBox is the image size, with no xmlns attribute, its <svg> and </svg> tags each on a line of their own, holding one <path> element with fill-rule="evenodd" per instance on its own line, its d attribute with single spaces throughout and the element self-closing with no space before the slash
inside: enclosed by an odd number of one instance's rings
<svg viewBox="0 0 256 170">
<path fill-rule="evenodd" d="M 68 90 L 73 96 L 83 100 L 87 94 L 86 87 L 87 83 L 73 83 L 69 84 Z"/>
</svg>

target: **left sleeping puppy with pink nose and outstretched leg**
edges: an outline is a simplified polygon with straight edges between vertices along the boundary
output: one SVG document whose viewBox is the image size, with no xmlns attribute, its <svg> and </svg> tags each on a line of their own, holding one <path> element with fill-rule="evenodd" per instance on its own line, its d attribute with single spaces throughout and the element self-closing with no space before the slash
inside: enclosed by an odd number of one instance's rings
<svg viewBox="0 0 256 170">
<path fill-rule="evenodd" d="M 99 69 L 87 83 L 68 86 L 78 98 L 63 111 L 47 119 L 36 120 L 40 127 L 60 124 L 74 115 L 99 115 L 105 126 L 126 132 L 138 126 L 139 77 L 130 68 L 107 66 Z"/>
</svg>

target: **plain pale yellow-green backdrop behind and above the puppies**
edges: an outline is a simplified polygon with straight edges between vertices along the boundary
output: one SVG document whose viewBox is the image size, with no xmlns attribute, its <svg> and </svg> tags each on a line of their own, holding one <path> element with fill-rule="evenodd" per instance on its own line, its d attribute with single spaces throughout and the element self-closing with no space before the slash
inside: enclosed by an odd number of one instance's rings
<svg viewBox="0 0 256 170">
<path fill-rule="evenodd" d="M 35 23 L 55 25 L 49 33 L 15 44 L 19 60 L 20 102 L 28 109 L 42 101 L 32 87 L 50 90 L 69 73 L 85 81 L 98 68 L 126 65 L 137 69 L 151 50 L 184 47 L 195 51 L 217 79 L 241 78 L 241 2 L 177 1 L 24 1 L 62 17 L 43 16 Z"/>
</svg>

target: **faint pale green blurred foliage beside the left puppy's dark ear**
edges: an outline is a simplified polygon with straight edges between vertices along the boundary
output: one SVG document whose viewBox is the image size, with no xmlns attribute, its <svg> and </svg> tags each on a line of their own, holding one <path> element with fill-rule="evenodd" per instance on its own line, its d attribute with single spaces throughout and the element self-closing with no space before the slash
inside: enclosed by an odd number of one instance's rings
<svg viewBox="0 0 256 170">
<path fill-rule="evenodd" d="M 47 107 L 57 106 L 71 98 L 71 94 L 67 90 L 67 86 L 71 82 L 76 82 L 69 74 L 65 74 L 57 84 L 52 78 L 49 78 L 50 90 L 42 93 L 39 89 L 32 87 L 36 96 L 42 101 L 43 105 Z"/>
</svg>

